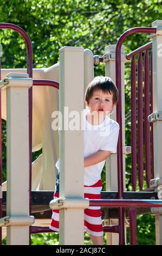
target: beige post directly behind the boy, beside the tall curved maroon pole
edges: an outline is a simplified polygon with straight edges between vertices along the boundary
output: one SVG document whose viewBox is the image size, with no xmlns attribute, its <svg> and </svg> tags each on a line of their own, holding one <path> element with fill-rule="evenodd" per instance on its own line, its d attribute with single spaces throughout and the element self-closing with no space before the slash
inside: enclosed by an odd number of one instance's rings
<svg viewBox="0 0 162 256">
<path fill-rule="evenodd" d="M 115 47 L 116 45 L 108 45 L 105 47 L 105 75 L 112 78 L 115 83 Z M 122 84 L 122 143 L 123 152 L 125 147 L 125 78 L 124 66 L 126 57 L 124 46 L 121 47 L 121 84 Z M 116 121 L 116 110 L 111 114 L 111 119 Z M 123 154 L 123 170 L 124 170 L 124 187 L 125 187 L 125 154 Z M 111 154 L 106 160 L 106 191 L 118 191 L 117 178 L 117 154 Z M 107 233 L 107 245 L 119 245 L 119 235 L 117 233 Z"/>
</svg>

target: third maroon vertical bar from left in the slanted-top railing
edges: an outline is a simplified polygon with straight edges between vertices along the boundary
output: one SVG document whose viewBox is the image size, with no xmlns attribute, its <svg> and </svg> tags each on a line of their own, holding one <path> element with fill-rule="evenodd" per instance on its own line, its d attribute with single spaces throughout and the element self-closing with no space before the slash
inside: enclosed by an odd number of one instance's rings
<svg viewBox="0 0 162 256">
<path fill-rule="evenodd" d="M 151 179 L 151 150 L 150 150 L 150 69 L 148 50 L 145 51 L 145 162 L 146 162 L 146 183 L 150 187 Z"/>
</svg>

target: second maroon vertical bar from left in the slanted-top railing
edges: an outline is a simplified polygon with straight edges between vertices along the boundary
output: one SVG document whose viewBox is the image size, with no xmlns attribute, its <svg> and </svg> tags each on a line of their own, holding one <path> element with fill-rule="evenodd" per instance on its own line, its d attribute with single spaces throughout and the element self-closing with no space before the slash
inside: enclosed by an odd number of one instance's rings
<svg viewBox="0 0 162 256">
<path fill-rule="evenodd" d="M 144 184 L 142 53 L 138 54 L 138 177 L 140 190 Z"/>
</svg>

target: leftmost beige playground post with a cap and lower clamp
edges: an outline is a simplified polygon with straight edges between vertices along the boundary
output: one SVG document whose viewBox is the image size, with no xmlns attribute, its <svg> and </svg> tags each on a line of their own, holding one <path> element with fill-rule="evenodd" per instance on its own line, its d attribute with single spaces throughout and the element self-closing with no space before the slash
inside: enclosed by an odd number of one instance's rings
<svg viewBox="0 0 162 256">
<path fill-rule="evenodd" d="M 7 245 L 29 245 L 28 74 L 8 74 L 7 88 Z"/>
</svg>

